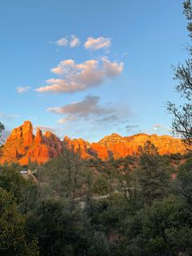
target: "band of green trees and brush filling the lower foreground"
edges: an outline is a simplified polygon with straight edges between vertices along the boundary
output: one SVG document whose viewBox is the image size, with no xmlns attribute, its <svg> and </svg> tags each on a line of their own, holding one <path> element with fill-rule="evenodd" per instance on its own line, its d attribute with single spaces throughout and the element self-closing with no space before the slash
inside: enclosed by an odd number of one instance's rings
<svg viewBox="0 0 192 256">
<path fill-rule="evenodd" d="M 192 157 L 83 161 L 63 155 L 38 166 L 0 167 L 1 255 L 191 255 Z"/>
</svg>

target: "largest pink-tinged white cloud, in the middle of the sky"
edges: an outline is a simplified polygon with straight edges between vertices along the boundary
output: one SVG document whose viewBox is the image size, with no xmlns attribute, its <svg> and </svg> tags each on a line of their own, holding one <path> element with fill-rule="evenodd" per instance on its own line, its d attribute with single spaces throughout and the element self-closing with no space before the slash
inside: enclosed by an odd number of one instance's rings
<svg viewBox="0 0 192 256">
<path fill-rule="evenodd" d="M 48 85 L 41 86 L 36 90 L 39 92 L 73 93 L 87 90 L 90 87 L 99 86 L 106 80 L 122 73 L 124 64 L 122 62 L 111 62 L 106 57 L 100 60 L 86 60 L 76 64 L 74 60 L 63 60 L 52 73 L 61 78 L 51 78 L 46 81 Z"/>
</svg>

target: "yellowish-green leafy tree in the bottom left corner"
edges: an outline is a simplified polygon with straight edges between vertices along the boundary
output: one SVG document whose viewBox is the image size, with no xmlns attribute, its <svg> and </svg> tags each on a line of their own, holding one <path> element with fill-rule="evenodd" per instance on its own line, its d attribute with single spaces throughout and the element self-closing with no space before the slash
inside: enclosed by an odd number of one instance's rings
<svg viewBox="0 0 192 256">
<path fill-rule="evenodd" d="M 0 254 L 38 255 L 37 243 L 28 243 L 24 234 L 25 219 L 19 213 L 11 193 L 0 188 Z"/>
</svg>

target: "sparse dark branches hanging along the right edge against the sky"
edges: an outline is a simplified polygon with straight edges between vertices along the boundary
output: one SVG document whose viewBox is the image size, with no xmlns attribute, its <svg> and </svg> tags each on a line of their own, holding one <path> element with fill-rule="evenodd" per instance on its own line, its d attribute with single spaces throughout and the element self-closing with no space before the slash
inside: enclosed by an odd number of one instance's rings
<svg viewBox="0 0 192 256">
<path fill-rule="evenodd" d="M 184 14 L 188 20 L 187 30 L 190 36 L 190 43 L 192 40 L 192 7 L 190 0 L 186 0 L 183 3 Z M 172 113 L 172 132 L 174 135 L 181 135 L 181 138 L 185 142 L 187 149 L 191 150 L 192 144 L 192 46 L 188 47 L 190 58 L 185 60 L 185 64 L 180 64 L 177 68 L 174 68 L 175 76 L 178 84 L 176 86 L 177 92 L 185 99 L 185 103 L 177 106 L 171 101 L 167 104 L 169 113 Z"/>
</svg>

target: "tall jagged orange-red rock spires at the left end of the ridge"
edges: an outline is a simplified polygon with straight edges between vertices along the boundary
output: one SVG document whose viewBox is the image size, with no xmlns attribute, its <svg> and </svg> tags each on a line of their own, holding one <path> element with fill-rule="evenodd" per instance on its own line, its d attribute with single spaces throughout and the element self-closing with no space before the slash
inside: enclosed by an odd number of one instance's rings
<svg viewBox="0 0 192 256">
<path fill-rule="evenodd" d="M 32 123 L 24 121 L 24 124 L 12 130 L 7 138 L 0 162 L 18 162 L 20 165 L 26 165 L 29 161 L 44 163 L 52 157 L 58 157 L 62 152 L 61 141 L 55 135 L 48 139 L 44 137 L 47 138 L 39 128 L 34 136 Z"/>
</svg>

